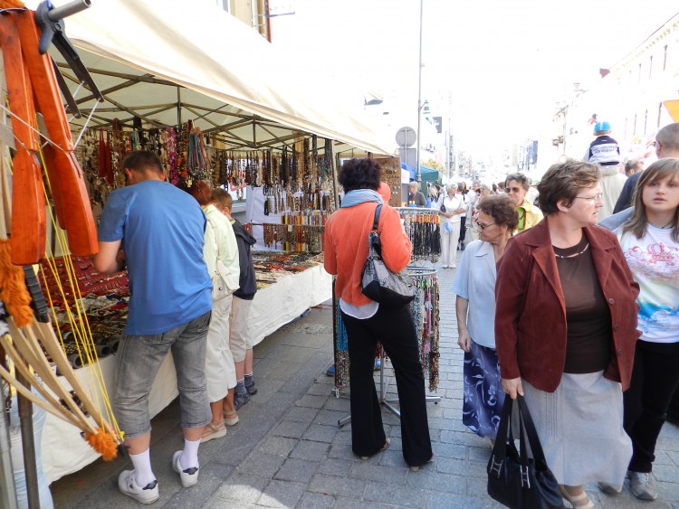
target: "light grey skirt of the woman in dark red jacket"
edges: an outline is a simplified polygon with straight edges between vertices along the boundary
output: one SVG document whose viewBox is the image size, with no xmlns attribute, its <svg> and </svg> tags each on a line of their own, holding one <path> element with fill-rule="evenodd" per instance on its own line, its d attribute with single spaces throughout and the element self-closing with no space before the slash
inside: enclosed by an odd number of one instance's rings
<svg viewBox="0 0 679 509">
<path fill-rule="evenodd" d="M 622 485 L 632 457 L 622 386 L 603 372 L 563 373 L 554 392 L 521 381 L 552 473 L 562 485 Z"/>
</svg>

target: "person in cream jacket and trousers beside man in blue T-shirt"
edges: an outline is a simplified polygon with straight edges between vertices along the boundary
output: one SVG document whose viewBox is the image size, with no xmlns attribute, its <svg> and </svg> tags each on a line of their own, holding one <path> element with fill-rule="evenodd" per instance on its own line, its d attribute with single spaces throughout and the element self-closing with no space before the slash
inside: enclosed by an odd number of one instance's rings
<svg viewBox="0 0 679 509">
<path fill-rule="evenodd" d="M 212 190 L 202 181 L 195 182 L 186 190 L 206 214 L 207 224 L 203 258 L 207 273 L 215 277 L 217 258 L 230 270 L 234 281 L 240 276 L 238 244 L 234 227 L 214 205 Z M 212 411 L 212 421 L 206 426 L 201 442 L 222 438 L 226 435 L 225 418 L 237 421 L 234 409 L 236 385 L 234 355 L 229 348 L 229 316 L 233 296 L 229 295 L 212 303 L 212 317 L 207 331 L 206 379 L 207 395 Z"/>
</svg>

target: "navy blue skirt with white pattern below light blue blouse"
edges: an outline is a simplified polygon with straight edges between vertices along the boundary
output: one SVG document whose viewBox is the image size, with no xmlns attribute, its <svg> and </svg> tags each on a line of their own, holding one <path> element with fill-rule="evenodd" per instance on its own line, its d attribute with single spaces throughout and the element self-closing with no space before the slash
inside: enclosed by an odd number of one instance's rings
<svg viewBox="0 0 679 509">
<path fill-rule="evenodd" d="M 495 439 L 502 416 L 504 392 L 500 364 L 493 348 L 472 341 L 464 353 L 462 421 L 479 437 Z"/>
</svg>

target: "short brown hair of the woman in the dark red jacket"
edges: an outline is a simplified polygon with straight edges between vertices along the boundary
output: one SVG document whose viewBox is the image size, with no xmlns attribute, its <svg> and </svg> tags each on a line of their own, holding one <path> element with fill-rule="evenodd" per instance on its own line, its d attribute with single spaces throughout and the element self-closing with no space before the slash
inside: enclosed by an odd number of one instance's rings
<svg viewBox="0 0 679 509">
<path fill-rule="evenodd" d="M 559 202 L 570 207 L 580 189 L 597 185 L 601 178 L 596 165 L 569 159 L 564 163 L 551 165 L 538 184 L 538 207 L 545 215 L 559 212 Z"/>
</svg>

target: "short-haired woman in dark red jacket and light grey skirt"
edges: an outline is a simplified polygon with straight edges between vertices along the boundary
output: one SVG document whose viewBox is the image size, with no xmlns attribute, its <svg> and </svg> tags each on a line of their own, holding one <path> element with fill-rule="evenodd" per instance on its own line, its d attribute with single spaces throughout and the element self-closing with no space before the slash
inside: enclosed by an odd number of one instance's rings
<svg viewBox="0 0 679 509">
<path fill-rule="evenodd" d="M 623 391 L 632 375 L 639 287 L 616 236 L 596 226 L 596 165 L 552 165 L 538 185 L 544 221 L 512 238 L 498 266 L 495 342 L 502 389 L 525 396 L 561 493 L 622 485 L 632 444 Z"/>
</svg>

